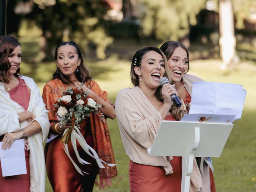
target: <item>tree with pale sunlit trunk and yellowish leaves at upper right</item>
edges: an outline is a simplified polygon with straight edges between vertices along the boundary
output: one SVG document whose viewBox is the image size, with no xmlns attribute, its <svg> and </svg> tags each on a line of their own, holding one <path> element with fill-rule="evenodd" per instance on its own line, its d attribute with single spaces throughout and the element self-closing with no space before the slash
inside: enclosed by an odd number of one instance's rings
<svg viewBox="0 0 256 192">
<path fill-rule="evenodd" d="M 236 53 L 236 37 L 234 19 L 236 19 L 236 28 L 244 28 L 244 20 L 249 20 L 252 13 L 256 13 L 255 0 L 215 0 L 219 3 L 220 20 L 220 56 L 222 58 L 221 69 L 225 70 L 227 66 L 236 64 L 240 61 Z M 234 10 L 234 11 L 233 11 Z"/>
</svg>

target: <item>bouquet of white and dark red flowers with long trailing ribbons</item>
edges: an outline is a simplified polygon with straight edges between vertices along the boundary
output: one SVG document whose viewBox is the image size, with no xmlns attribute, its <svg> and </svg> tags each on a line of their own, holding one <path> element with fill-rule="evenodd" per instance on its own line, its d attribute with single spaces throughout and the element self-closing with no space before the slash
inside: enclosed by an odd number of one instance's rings
<svg viewBox="0 0 256 192">
<path fill-rule="evenodd" d="M 82 122 L 86 116 L 90 116 L 90 113 L 98 114 L 100 117 L 100 120 L 102 120 L 104 123 L 105 118 L 104 115 L 100 112 L 99 108 L 101 107 L 99 104 L 97 104 L 92 98 L 88 96 L 87 92 L 84 92 L 83 90 L 80 90 L 78 88 L 72 89 L 68 88 L 67 90 L 64 90 L 62 93 L 61 98 L 58 99 L 58 101 L 54 104 L 55 113 L 57 114 L 60 125 L 63 126 L 67 122 L 72 122 L 72 128 L 68 128 L 64 130 L 62 134 L 62 138 L 60 142 L 64 146 L 64 150 L 70 158 L 70 161 L 76 168 L 76 170 L 84 175 L 87 174 L 84 172 L 77 164 L 72 160 L 72 157 L 70 156 L 69 149 L 68 149 L 68 141 L 71 140 L 72 147 L 75 151 L 76 157 L 78 159 L 78 162 L 80 164 L 90 164 L 89 162 L 86 162 L 86 160 L 82 159 L 80 157 L 80 154 L 77 150 L 76 142 L 80 144 L 82 149 L 91 157 L 93 157 L 98 166 L 100 168 L 105 168 L 103 164 L 107 164 L 108 166 L 115 166 L 116 164 L 108 164 L 101 160 L 97 154 L 97 152 L 89 146 L 86 143 L 86 140 L 84 136 L 82 136 L 80 132 L 80 126 L 79 123 Z"/>
</svg>

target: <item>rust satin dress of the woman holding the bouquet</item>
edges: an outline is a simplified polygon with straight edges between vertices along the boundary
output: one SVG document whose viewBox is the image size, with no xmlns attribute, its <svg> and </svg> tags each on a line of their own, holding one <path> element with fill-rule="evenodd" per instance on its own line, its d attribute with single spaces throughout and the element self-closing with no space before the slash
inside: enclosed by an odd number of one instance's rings
<svg viewBox="0 0 256 192">
<path fill-rule="evenodd" d="M 90 130 L 90 118 L 88 117 L 85 121 L 80 125 L 82 129 L 80 129 L 81 134 L 84 135 L 84 138 L 87 144 L 95 149 L 95 145 L 92 139 L 92 133 Z M 76 164 L 88 174 L 82 176 L 79 174 L 72 162 L 66 155 L 66 152 L 63 149 L 63 144 L 60 143 L 60 138 L 62 134 L 58 136 L 58 138 L 52 140 L 47 144 L 47 155 L 46 155 L 46 170 L 48 179 L 52 185 L 54 191 L 58 192 L 79 192 L 82 188 L 84 191 L 92 191 L 94 186 L 94 181 L 96 175 L 98 173 L 98 165 L 94 158 L 90 157 L 78 142 L 76 142 L 78 153 L 80 157 L 91 164 L 81 165 L 76 157 L 75 151 L 72 147 L 71 141 L 68 142 L 68 150 L 70 156 Z M 63 182 L 65 181 L 65 182 Z"/>
</svg>

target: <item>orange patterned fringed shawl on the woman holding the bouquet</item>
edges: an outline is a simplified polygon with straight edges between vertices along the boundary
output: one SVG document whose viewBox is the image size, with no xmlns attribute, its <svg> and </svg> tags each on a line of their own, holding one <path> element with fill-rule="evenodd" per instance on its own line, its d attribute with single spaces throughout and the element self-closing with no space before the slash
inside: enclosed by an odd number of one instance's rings
<svg viewBox="0 0 256 192">
<path fill-rule="evenodd" d="M 94 80 L 88 80 L 85 85 L 95 92 L 100 98 L 114 105 L 110 100 L 108 100 L 107 92 L 102 91 Z M 53 123 L 58 122 L 56 114 L 54 114 L 55 108 L 53 105 L 61 97 L 63 90 L 66 90 L 66 87 L 59 79 L 53 79 L 44 86 L 42 97 L 46 104 L 46 109 L 48 110 L 51 126 Z M 104 123 L 100 120 L 100 117 L 97 114 L 91 114 L 90 125 L 92 138 L 99 158 L 104 160 L 106 163 L 115 164 L 114 153 L 106 121 Z M 83 127 L 81 127 L 81 129 L 83 129 Z M 100 187 L 111 185 L 111 178 L 117 175 L 116 166 L 109 167 L 106 165 L 105 167 L 106 168 L 99 169 Z"/>
</svg>

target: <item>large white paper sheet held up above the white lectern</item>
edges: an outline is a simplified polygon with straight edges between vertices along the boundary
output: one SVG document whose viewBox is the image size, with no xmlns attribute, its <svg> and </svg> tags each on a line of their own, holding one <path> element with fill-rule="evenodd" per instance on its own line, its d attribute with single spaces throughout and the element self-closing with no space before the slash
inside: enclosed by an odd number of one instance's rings
<svg viewBox="0 0 256 192">
<path fill-rule="evenodd" d="M 218 82 L 193 82 L 189 114 L 235 115 L 240 119 L 246 90 L 242 85 Z"/>
</svg>

